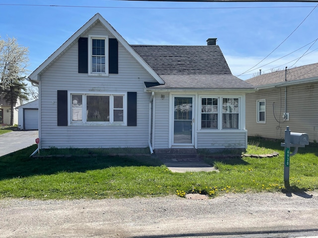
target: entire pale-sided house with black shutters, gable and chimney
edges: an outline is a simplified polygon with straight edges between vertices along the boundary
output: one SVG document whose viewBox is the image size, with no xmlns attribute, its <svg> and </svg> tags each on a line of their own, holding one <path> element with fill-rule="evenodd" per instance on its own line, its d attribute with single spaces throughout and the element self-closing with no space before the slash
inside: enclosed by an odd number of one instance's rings
<svg viewBox="0 0 318 238">
<path fill-rule="evenodd" d="M 29 76 L 40 148 L 246 148 L 254 87 L 215 43 L 129 45 L 97 13 Z"/>
</svg>

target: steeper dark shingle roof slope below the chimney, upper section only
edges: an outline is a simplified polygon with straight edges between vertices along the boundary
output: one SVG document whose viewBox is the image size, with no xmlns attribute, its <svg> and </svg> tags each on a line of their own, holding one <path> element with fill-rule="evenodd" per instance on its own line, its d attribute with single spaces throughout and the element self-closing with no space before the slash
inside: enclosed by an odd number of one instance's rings
<svg viewBox="0 0 318 238">
<path fill-rule="evenodd" d="M 132 45 L 132 48 L 158 74 L 232 74 L 217 45 Z"/>
</svg>

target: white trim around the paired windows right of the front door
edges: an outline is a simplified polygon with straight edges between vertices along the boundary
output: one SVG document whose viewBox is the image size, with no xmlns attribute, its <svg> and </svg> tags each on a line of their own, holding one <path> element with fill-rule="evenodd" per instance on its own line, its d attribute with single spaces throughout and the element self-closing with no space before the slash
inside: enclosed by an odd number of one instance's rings
<svg viewBox="0 0 318 238">
<path fill-rule="evenodd" d="M 215 128 L 201 128 L 201 101 L 202 101 L 202 98 L 218 98 L 218 129 L 215 129 Z M 223 99 L 224 98 L 238 98 L 239 99 L 239 128 L 229 128 L 229 129 L 225 129 L 225 128 L 222 128 L 222 118 L 223 118 L 223 105 L 222 105 L 222 102 L 223 102 Z M 243 125 L 242 125 L 242 122 L 244 121 L 244 118 L 243 118 L 243 113 L 242 111 L 244 110 L 243 109 L 243 105 L 242 105 L 242 102 L 243 102 L 243 98 L 241 95 L 199 95 L 199 100 L 198 100 L 198 110 L 197 110 L 197 115 L 198 115 L 198 119 L 197 121 L 199 121 L 197 123 L 197 128 L 198 128 L 198 131 L 200 132 L 211 132 L 211 131 L 239 131 L 239 130 L 242 130 L 243 128 Z"/>
</svg>

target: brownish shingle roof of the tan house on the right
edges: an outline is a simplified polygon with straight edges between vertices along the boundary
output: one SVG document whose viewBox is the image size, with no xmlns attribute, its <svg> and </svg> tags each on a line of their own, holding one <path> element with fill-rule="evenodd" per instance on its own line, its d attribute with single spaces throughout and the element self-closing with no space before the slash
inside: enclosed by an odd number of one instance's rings
<svg viewBox="0 0 318 238">
<path fill-rule="evenodd" d="M 300 79 L 318 77 L 318 63 L 287 69 L 287 74 L 285 70 L 281 70 L 272 73 L 265 73 L 245 81 L 254 86 L 262 86 L 285 82 L 285 75 L 287 79 L 286 81 L 296 81 Z"/>
</svg>

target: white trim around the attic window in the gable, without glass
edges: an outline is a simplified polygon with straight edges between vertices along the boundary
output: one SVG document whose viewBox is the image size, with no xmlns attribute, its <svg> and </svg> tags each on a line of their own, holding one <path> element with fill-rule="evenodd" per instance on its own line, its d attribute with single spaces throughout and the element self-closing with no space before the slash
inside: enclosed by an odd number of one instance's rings
<svg viewBox="0 0 318 238">
<path fill-rule="evenodd" d="M 92 72 L 92 39 L 102 39 L 105 40 L 105 72 Z M 88 35 L 88 75 L 91 76 L 108 76 L 109 72 L 109 47 L 108 47 L 108 36 L 100 36 L 100 35 Z"/>
</svg>

